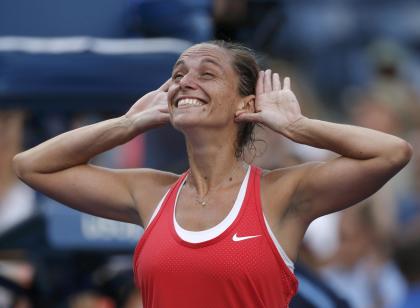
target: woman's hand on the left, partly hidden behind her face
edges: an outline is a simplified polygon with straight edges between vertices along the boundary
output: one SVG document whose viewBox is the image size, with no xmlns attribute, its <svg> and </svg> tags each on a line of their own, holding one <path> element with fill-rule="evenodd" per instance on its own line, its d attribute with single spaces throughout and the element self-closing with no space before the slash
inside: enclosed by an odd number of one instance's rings
<svg viewBox="0 0 420 308">
<path fill-rule="evenodd" d="M 144 129 L 163 126 L 169 122 L 168 89 L 171 79 L 168 79 L 159 89 L 149 92 L 131 106 L 125 114 L 127 118 L 138 120 Z M 136 121 L 136 123 L 138 123 Z"/>
</svg>

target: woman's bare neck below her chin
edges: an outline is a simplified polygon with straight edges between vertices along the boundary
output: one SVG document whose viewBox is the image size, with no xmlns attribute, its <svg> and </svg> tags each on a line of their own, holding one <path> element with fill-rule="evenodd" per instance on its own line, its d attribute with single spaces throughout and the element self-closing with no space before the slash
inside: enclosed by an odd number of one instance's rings
<svg viewBox="0 0 420 308">
<path fill-rule="evenodd" d="M 189 185 L 194 186 L 199 196 L 211 189 L 220 188 L 229 182 L 242 179 L 245 164 L 235 157 L 236 136 L 207 134 L 187 137 L 187 152 L 190 165 Z"/>
</svg>

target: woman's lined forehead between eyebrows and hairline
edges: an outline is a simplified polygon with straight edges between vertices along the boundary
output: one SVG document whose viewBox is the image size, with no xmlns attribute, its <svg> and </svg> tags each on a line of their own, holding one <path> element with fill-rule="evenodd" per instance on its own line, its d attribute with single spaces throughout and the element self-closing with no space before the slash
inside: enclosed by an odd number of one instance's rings
<svg viewBox="0 0 420 308">
<path fill-rule="evenodd" d="M 199 63 L 213 62 L 226 70 L 232 69 L 232 56 L 230 53 L 226 49 L 212 44 L 198 44 L 188 48 L 179 57 L 175 67 L 180 63 L 185 64 L 193 61 Z"/>
</svg>

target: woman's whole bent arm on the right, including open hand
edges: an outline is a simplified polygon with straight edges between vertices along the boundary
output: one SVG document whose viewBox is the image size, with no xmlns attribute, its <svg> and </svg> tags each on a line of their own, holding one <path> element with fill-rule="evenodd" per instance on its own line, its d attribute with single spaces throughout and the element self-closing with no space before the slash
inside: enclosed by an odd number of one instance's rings
<svg viewBox="0 0 420 308">
<path fill-rule="evenodd" d="M 297 142 L 333 151 L 340 157 L 295 168 L 290 206 L 308 224 L 370 196 L 403 168 L 411 157 L 404 140 L 379 131 L 313 120 L 301 114 L 285 78 L 260 73 L 256 113 L 238 113 L 238 121 L 254 121 Z M 275 172 L 275 171 L 274 171 Z"/>
</svg>

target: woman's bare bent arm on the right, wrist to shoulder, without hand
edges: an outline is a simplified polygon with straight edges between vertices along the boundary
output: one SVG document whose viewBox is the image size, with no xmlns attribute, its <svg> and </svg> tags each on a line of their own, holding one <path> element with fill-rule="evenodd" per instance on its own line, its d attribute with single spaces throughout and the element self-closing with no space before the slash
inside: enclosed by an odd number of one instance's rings
<svg viewBox="0 0 420 308">
<path fill-rule="evenodd" d="M 389 134 L 304 117 L 288 126 L 284 135 L 341 155 L 304 167 L 295 206 L 308 222 L 375 193 L 408 163 L 412 152 L 406 141 Z"/>
</svg>

